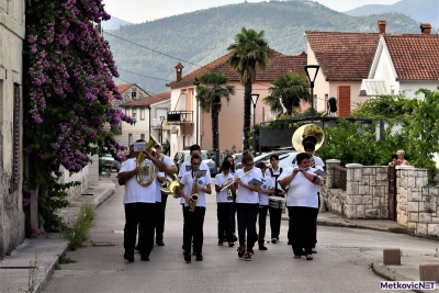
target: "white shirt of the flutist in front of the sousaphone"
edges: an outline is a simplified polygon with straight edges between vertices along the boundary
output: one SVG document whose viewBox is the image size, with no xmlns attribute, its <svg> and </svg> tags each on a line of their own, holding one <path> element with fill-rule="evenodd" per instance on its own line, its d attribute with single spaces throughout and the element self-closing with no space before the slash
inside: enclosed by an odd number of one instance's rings
<svg viewBox="0 0 439 293">
<path fill-rule="evenodd" d="M 278 178 L 281 181 L 283 178 L 292 174 L 294 168 L 289 167 Z M 306 172 L 314 174 L 316 169 L 309 168 Z M 291 180 L 289 190 L 286 192 L 286 206 L 307 206 L 318 209 L 319 187 L 314 184 L 302 172 L 297 172 L 293 180 Z"/>
</svg>

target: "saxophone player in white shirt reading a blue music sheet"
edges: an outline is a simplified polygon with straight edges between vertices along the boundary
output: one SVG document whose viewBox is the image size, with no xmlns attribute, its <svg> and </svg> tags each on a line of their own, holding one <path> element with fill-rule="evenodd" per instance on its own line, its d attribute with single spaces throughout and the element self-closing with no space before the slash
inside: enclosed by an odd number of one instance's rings
<svg viewBox="0 0 439 293">
<path fill-rule="evenodd" d="M 191 262 L 191 244 L 193 241 L 193 252 L 196 260 L 203 260 L 203 224 L 205 215 L 205 194 L 211 194 L 211 177 L 207 172 L 203 177 L 196 177 L 195 171 L 199 170 L 201 165 L 200 155 L 195 154 L 191 158 L 191 171 L 187 171 L 180 181 L 181 203 L 183 207 L 183 250 L 184 261 Z M 196 182 L 194 182 L 196 180 Z M 191 202 L 192 193 L 196 193 L 199 199 L 194 212 L 190 211 L 189 203 Z"/>
</svg>

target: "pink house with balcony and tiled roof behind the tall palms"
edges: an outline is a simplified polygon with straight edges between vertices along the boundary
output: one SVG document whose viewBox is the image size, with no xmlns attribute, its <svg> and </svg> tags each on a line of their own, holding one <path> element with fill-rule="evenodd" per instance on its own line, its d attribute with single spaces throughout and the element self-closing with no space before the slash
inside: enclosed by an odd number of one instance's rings
<svg viewBox="0 0 439 293">
<path fill-rule="evenodd" d="M 229 56 L 230 54 L 224 55 L 185 76 L 182 74 L 184 68 L 182 64 L 179 63 L 175 67 L 176 81 L 167 83 L 171 88 L 171 111 L 168 113 L 168 123 L 171 124 L 171 155 L 192 144 L 199 144 L 203 149 L 212 149 L 212 116 L 211 113 L 204 113 L 198 106 L 196 86 L 194 86 L 195 78 L 209 70 L 223 72 L 229 78 L 228 84 L 235 87 L 235 94 L 230 97 L 229 102 L 227 103 L 224 99 L 222 101 L 218 116 L 219 150 L 243 149 L 244 86 L 239 81 L 239 76 L 226 63 Z M 257 75 L 252 84 L 252 93 L 259 94 L 255 113 L 256 123 L 266 122 L 273 116 L 270 108 L 262 102 L 262 99 L 269 95 L 268 88 L 272 86 L 270 82 L 278 76 L 291 71 L 305 77 L 305 53 L 296 56 L 277 53 L 267 70 Z M 252 108 L 251 111 L 254 111 Z"/>
</svg>

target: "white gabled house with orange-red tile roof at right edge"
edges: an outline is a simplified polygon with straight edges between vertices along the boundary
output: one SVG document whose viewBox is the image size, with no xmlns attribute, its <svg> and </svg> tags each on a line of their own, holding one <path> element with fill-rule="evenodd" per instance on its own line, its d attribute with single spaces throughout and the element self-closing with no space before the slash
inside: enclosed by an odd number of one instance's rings
<svg viewBox="0 0 439 293">
<path fill-rule="evenodd" d="M 435 90 L 439 86 L 439 35 L 430 32 L 431 25 L 423 23 L 419 34 L 382 34 L 360 94 L 405 91 L 413 98 L 420 88 Z"/>
</svg>

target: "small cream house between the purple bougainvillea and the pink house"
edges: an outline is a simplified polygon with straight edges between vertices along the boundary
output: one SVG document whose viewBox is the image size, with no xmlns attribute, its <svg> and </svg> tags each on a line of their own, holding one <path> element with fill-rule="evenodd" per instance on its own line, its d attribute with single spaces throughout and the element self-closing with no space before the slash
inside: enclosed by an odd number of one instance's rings
<svg viewBox="0 0 439 293">
<path fill-rule="evenodd" d="M 170 137 L 170 126 L 167 123 L 167 113 L 171 104 L 171 93 L 162 92 L 146 97 L 133 102 L 121 104 L 120 108 L 127 115 L 136 119 L 134 125 L 124 123 L 120 143 L 131 146 L 137 139 L 149 140 L 149 136 L 156 137 L 159 143 L 166 143 Z"/>
</svg>

